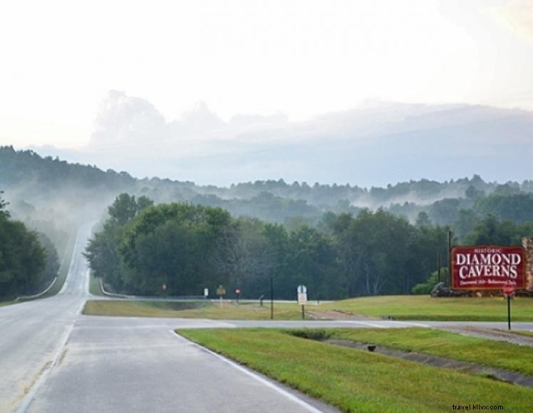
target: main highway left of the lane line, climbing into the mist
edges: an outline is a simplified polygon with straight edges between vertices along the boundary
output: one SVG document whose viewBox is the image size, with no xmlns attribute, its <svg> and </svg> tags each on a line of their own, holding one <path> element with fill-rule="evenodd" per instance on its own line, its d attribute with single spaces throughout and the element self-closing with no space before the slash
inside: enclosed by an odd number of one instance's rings
<svg viewBox="0 0 533 413">
<path fill-rule="evenodd" d="M 19 407 L 50 370 L 86 300 L 86 261 L 81 259 L 90 227 L 78 232 L 68 280 L 56 296 L 0 308 L 0 412 Z"/>
</svg>

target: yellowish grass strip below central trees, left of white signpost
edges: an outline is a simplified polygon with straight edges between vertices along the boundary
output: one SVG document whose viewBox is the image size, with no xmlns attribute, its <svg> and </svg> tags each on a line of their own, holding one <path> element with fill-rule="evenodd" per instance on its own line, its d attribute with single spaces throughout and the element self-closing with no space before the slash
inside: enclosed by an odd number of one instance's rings
<svg viewBox="0 0 533 413">
<path fill-rule="evenodd" d="M 269 320 L 270 307 L 257 303 L 196 302 L 183 307 L 172 301 L 88 300 L 83 314 L 128 317 L 208 318 L 211 320 Z M 299 320 L 299 305 L 274 305 L 275 320 Z"/>
</svg>

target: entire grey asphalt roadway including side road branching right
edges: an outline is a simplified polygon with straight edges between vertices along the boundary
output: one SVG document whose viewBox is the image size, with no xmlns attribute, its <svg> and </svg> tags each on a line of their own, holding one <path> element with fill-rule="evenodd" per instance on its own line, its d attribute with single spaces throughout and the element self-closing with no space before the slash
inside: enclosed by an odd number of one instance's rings
<svg viewBox="0 0 533 413">
<path fill-rule="evenodd" d="M 434 326 L 461 323 L 220 321 L 81 315 L 88 268 L 78 233 L 57 296 L 0 308 L 0 412 L 334 412 L 303 394 L 214 355 L 176 328 Z M 483 323 L 482 328 L 505 328 Z M 514 328 L 532 330 L 533 323 Z"/>
</svg>

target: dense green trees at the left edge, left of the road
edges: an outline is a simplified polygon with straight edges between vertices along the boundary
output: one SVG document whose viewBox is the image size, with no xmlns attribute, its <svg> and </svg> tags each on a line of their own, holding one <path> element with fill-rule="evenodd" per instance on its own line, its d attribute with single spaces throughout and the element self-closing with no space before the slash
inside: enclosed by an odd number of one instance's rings
<svg viewBox="0 0 533 413">
<path fill-rule="evenodd" d="M 6 206 L 0 197 L 1 300 L 41 291 L 58 271 L 57 253 L 51 241 L 11 219 Z"/>
</svg>

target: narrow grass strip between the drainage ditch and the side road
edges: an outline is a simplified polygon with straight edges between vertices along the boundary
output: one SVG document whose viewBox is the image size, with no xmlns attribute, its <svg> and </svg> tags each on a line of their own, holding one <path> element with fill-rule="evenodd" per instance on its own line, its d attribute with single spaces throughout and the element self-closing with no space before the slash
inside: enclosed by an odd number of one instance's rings
<svg viewBox="0 0 533 413">
<path fill-rule="evenodd" d="M 398 350 L 422 352 L 487 367 L 533 375 L 533 347 L 502 343 L 430 328 L 331 328 L 296 330 L 321 333 L 323 337 L 382 345 Z M 288 333 L 294 333 L 289 330 Z"/>
</svg>

